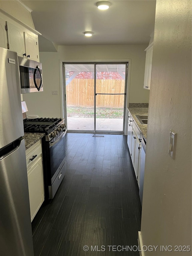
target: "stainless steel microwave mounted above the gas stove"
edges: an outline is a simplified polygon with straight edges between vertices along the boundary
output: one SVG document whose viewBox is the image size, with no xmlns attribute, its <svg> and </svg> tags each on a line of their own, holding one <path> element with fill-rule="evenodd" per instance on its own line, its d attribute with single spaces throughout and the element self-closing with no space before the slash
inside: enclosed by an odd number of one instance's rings
<svg viewBox="0 0 192 256">
<path fill-rule="evenodd" d="M 21 93 L 42 92 L 42 64 L 18 57 Z"/>
</svg>

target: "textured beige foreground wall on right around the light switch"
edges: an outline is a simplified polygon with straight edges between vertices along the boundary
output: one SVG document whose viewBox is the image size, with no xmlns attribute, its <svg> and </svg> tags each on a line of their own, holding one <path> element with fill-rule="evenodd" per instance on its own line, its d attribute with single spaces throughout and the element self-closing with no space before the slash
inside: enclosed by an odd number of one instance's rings
<svg viewBox="0 0 192 256">
<path fill-rule="evenodd" d="M 168 155 L 170 129 L 176 157 Z M 191 255 L 191 1 L 157 0 L 141 221 L 148 255 Z M 172 245 L 161 252 L 160 245 Z"/>
</svg>

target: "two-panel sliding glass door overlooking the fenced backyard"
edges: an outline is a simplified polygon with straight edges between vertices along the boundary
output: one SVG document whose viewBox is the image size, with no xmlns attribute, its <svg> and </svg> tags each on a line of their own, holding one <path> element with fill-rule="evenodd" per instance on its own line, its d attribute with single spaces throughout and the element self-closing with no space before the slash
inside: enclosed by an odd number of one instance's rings
<svg viewBox="0 0 192 256">
<path fill-rule="evenodd" d="M 68 131 L 124 133 L 128 63 L 65 63 Z"/>
</svg>

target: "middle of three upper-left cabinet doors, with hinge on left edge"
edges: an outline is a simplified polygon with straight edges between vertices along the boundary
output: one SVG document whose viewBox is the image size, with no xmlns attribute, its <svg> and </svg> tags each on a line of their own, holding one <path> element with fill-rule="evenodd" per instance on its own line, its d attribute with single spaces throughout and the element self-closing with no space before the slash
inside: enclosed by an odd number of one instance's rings
<svg viewBox="0 0 192 256">
<path fill-rule="evenodd" d="M 23 30 L 7 22 L 7 35 L 9 50 L 16 52 L 18 56 L 25 54 Z"/>
</svg>

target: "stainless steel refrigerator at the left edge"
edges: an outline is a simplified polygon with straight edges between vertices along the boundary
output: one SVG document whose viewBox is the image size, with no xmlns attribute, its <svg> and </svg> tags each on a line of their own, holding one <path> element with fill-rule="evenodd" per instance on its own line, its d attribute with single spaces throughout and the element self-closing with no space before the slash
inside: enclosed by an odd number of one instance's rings
<svg viewBox="0 0 192 256">
<path fill-rule="evenodd" d="M 33 256 L 17 54 L 0 47 L 0 255 Z"/>
</svg>

